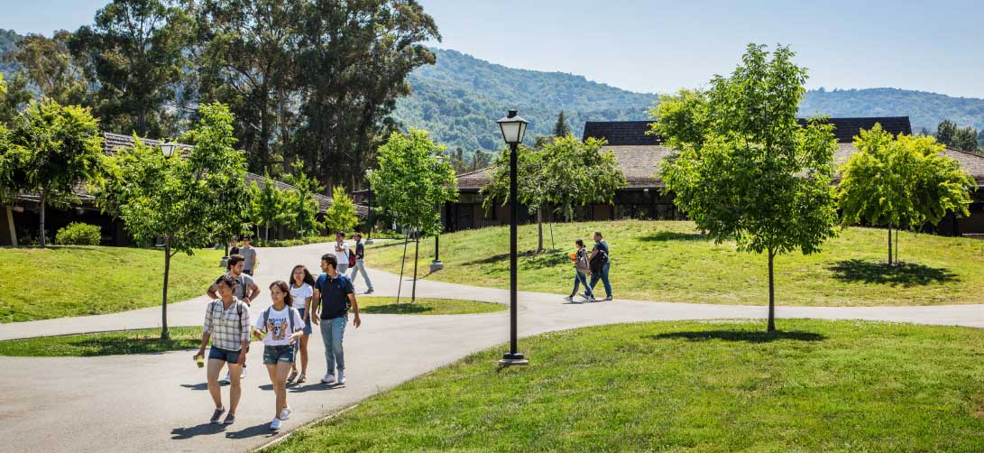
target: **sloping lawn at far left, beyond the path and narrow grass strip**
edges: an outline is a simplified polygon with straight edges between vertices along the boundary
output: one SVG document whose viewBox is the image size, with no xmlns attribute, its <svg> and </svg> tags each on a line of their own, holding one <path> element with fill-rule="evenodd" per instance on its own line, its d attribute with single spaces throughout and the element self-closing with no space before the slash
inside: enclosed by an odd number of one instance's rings
<svg viewBox="0 0 984 453">
<path fill-rule="evenodd" d="M 221 256 L 212 249 L 174 255 L 168 300 L 202 295 L 222 273 Z M 163 268 L 163 251 L 154 248 L 0 248 L 0 323 L 160 305 Z"/>
</svg>

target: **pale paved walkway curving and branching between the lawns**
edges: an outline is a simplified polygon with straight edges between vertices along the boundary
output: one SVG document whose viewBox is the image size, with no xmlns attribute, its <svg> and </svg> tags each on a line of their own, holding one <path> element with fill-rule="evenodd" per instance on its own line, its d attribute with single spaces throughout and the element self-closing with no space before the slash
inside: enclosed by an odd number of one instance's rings
<svg viewBox="0 0 984 453">
<path fill-rule="evenodd" d="M 261 288 L 284 279 L 295 263 L 318 268 L 327 247 L 263 249 Z M 370 256 L 371 258 L 371 256 Z M 276 270 L 271 274 L 271 270 Z M 218 273 L 216 268 L 216 275 Z M 379 295 L 395 295 L 398 276 L 371 271 Z M 356 288 L 361 292 L 361 279 Z M 616 277 L 617 284 L 617 277 Z M 403 293 L 408 293 L 404 282 Z M 616 286 L 617 288 L 617 286 Z M 506 303 L 508 291 L 420 281 L 420 296 Z M 261 300 L 268 301 L 264 295 Z M 168 305 L 170 325 L 201 323 L 206 299 Z M 649 301 L 561 303 L 556 294 L 520 293 L 521 336 L 598 324 L 646 320 L 763 318 L 766 308 Z M 259 302 L 257 309 L 266 308 Z M 984 327 L 984 305 L 787 307 L 785 318 L 870 319 Z M 109 315 L 0 325 L 0 339 L 159 326 L 159 307 Z M 318 383 L 324 374 L 320 334 L 310 343 L 309 381 L 288 387 L 294 409 L 281 432 L 313 421 L 462 356 L 509 339 L 509 312 L 477 315 L 364 315 L 345 333 L 348 383 Z M 780 324 L 781 327 L 781 324 Z M 0 435 L 6 451 L 245 451 L 274 437 L 273 394 L 261 355 L 250 355 L 237 421 L 212 425 L 205 374 L 190 352 L 102 357 L 0 357 Z M 521 341 L 522 351 L 522 341 Z M 530 357 L 535 362 L 536 357 Z M 494 366 L 494 363 L 489 363 Z M 223 398 L 228 392 L 223 388 Z M 282 435 L 282 434 L 279 434 Z"/>
</svg>

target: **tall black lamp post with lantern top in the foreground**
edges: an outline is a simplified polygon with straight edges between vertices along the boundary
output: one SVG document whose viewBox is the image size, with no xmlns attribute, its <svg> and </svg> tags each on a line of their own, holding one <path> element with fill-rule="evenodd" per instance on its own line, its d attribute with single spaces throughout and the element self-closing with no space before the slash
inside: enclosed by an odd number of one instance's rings
<svg viewBox="0 0 984 453">
<path fill-rule="evenodd" d="M 523 143 L 526 125 L 529 124 L 516 110 L 509 110 L 509 115 L 496 121 L 502 129 L 502 138 L 509 145 L 509 354 L 499 360 L 500 366 L 525 365 L 529 361 L 516 351 L 516 229 L 518 222 L 519 203 L 517 202 L 517 148 Z"/>
</svg>

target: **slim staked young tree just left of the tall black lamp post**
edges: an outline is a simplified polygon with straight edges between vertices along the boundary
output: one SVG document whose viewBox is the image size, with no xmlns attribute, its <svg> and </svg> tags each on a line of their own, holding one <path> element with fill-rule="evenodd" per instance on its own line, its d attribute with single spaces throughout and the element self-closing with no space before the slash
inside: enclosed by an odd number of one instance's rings
<svg viewBox="0 0 984 453">
<path fill-rule="evenodd" d="M 416 233 L 418 251 L 421 235 L 441 232 L 441 213 L 435 208 L 458 199 L 455 169 L 438 160 L 442 152 L 425 131 L 394 132 L 379 149 L 379 169 L 368 175 L 378 206 Z M 416 280 L 414 252 L 411 300 L 416 300 Z"/>
</svg>

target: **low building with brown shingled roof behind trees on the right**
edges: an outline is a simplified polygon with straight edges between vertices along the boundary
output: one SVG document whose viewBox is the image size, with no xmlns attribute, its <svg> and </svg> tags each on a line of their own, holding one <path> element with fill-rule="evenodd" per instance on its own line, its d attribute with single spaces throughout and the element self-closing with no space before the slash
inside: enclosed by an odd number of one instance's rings
<svg viewBox="0 0 984 453">
<path fill-rule="evenodd" d="M 800 121 L 804 124 L 806 122 Z M 854 136 L 861 129 L 871 129 L 875 123 L 881 123 L 885 130 L 895 135 L 912 134 L 907 116 L 830 118 L 829 121 L 837 139 L 837 151 L 833 156 L 836 163 L 846 162 L 858 151 L 854 148 Z M 672 194 L 666 192 L 657 174 L 659 162 L 671 156 L 674 151 L 663 146 L 658 137 L 647 134 L 650 123 L 651 121 L 588 121 L 584 124 L 583 138 L 605 139 L 608 142 L 602 150 L 614 154 L 628 184 L 616 192 L 614 203 L 585 206 L 577 213 L 576 220 L 686 218 L 673 204 Z M 984 183 L 984 157 L 951 149 L 946 149 L 944 154 L 959 162 L 977 181 L 978 187 Z M 486 212 L 481 206 L 482 197 L 479 191 L 489 182 L 491 174 L 491 168 L 484 168 L 459 175 L 461 197 L 457 203 L 446 206 L 442 213 L 449 230 L 505 225 L 509 222 L 507 208 L 497 207 Z M 937 231 L 945 234 L 984 233 L 984 193 L 978 189 L 974 193 L 974 200 L 970 206 L 970 217 L 957 218 L 951 214 L 937 226 Z M 520 211 L 522 223 L 532 221 L 525 210 Z"/>
</svg>

